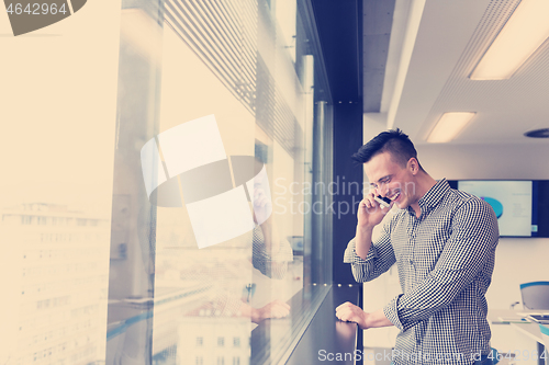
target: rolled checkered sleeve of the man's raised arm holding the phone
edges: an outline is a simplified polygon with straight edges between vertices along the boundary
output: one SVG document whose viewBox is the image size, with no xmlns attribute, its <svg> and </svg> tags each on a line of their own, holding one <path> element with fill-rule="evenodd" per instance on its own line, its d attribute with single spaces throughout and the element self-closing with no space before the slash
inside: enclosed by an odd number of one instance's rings
<svg viewBox="0 0 549 365">
<path fill-rule="evenodd" d="M 356 241 L 351 239 L 344 254 L 344 262 L 350 263 L 352 275 L 358 283 L 369 282 L 386 272 L 395 262 L 391 244 L 390 225 L 384 225 L 380 237 L 370 246 L 366 259 L 356 252 Z"/>
</svg>

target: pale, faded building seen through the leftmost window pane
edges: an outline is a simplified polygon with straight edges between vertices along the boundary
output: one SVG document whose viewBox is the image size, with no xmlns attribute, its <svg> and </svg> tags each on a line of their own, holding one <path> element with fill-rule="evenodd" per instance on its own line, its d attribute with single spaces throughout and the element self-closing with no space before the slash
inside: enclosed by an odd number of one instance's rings
<svg viewBox="0 0 549 365">
<path fill-rule="evenodd" d="M 2 322 L 7 364 L 92 364 L 104 356 L 109 219 L 66 205 L 26 203 L 1 210 Z M 5 290 L 5 292 L 4 292 Z M 16 299 L 15 299 L 16 298 Z M 5 326 L 5 327 L 4 327 Z"/>
</svg>

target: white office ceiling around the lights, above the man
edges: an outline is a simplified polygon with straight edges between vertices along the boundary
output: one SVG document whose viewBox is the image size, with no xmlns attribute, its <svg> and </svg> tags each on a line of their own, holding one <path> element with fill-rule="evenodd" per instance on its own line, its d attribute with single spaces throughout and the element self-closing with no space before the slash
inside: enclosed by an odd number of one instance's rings
<svg viewBox="0 0 549 365">
<path fill-rule="evenodd" d="M 422 8 L 423 13 L 421 18 L 416 14 L 415 28 L 411 18 L 404 25 L 393 23 L 392 34 L 399 34 L 395 27 L 400 33 L 406 28 L 416 34 L 415 39 L 404 35 L 400 49 L 390 48 L 392 73 L 391 58 L 397 58 L 400 67 L 396 77 L 385 77 L 384 88 L 394 89 L 389 100 L 386 93 L 382 100 L 390 105 L 388 126 L 403 129 L 421 145 L 426 144 L 442 113 L 477 112 L 450 144 L 548 144 L 523 134 L 549 127 L 549 42 L 508 80 L 468 78 L 517 3 L 519 0 L 397 0 L 396 7 L 405 4 L 410 14 Z"/>
</svg>

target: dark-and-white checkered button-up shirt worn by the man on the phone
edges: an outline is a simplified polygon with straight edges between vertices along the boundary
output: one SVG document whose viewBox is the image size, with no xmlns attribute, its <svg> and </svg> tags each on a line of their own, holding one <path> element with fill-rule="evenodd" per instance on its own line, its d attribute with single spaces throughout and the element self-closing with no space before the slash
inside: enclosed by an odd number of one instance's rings
<svg viewBox="0 0 549 365">
<path fill-rule="evenodd" d="M 396 210 L 366 260 L 345 251 L 357 282 L 371 281 L 394 263 L 402 294 L 384 308 L 401 330 L 394 364 L 473 364 L 490 352 L 484 297 L 494 269 L 497 218 L 483 199 L 437 182 L 421 199 L 422 214 Z"/>
</svg>

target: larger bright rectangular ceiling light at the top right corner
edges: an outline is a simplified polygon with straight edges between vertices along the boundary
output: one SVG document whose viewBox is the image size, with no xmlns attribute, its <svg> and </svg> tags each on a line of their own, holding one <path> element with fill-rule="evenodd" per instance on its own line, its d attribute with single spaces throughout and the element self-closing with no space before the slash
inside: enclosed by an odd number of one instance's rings
<svg viewBox="0 0 549 365">
<path fill-rule="evenodd" d="M 549 37 L 549 1 L 522 1 L 470 76 L 471 80 L 505 80 Z"/>
</svg>

